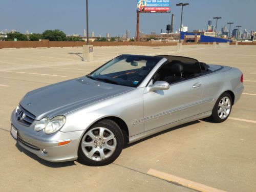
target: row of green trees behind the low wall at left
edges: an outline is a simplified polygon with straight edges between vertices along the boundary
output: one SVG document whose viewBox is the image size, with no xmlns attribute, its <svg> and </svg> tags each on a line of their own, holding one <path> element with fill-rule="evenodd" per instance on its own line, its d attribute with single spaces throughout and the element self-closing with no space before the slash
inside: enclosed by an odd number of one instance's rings
<svg viewBox="0 0 256 192">
<path fill-rule="evenodd" d="M 23 34 L 19 32 L 10 32 L 6 34 L 7 37 L 2 37 L 3 40 L 13 41 L 38 41 L 39 39 L 49 39 L 50 41 L 83 41 L 82 37 L 66 36 L 63 31 L 58 29 L 46 30 L 44 33 Z"/>
</svg>

